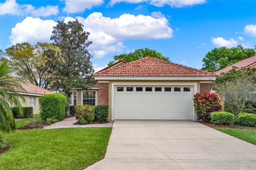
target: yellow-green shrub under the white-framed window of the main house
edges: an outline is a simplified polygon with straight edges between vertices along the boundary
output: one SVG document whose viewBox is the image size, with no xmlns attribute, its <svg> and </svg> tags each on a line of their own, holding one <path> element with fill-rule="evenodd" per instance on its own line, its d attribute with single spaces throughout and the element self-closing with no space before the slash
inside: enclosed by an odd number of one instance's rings
<svg viewBox="0 0 256 170">
<path fill-rule="evenodd" d="M 94 107 L 92 105 L 76 105 L 74 107 L 76 120 L 80 122 L 83 118 L 87 122 L 94 120 Z"/>
</svg>

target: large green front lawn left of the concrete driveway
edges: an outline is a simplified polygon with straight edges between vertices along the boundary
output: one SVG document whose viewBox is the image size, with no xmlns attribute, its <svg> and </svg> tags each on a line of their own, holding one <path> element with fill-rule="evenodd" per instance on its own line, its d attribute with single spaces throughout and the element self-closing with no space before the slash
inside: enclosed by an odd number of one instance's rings
<svg viewBox="0 0 256 170">
<path fill-rule="evenodd" d="M 16 130 L 0 170 L 80 170 L 104 158 L 112 128 Z"/>
</svg>

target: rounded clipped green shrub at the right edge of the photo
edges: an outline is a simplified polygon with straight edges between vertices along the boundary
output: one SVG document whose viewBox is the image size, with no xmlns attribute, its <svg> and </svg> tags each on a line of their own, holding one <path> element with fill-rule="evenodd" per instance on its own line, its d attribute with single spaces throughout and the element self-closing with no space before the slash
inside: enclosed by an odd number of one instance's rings
<svg viewBox="0 0 256 170">
<path fill-rule="evenodd" d="M 235 120 L 240 126 L 256 127 L 256 115 L 252 113 L 240 113 Z"/>
</svg>

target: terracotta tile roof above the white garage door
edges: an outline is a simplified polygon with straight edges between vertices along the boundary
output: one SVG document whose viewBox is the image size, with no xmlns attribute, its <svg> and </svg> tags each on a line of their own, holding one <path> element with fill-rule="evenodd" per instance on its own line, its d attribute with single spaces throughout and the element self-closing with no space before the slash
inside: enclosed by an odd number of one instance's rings
<svg viewBox="0 0 256 170">
<path fill-rule="evenodd" d="M 202 71 L 152 57 L 145 57 L 131 61 L 130 63 L 102 69 L 94 73 L 93 76 L 215 77 L 216 75 L 208 71 Z"/>
</svg>

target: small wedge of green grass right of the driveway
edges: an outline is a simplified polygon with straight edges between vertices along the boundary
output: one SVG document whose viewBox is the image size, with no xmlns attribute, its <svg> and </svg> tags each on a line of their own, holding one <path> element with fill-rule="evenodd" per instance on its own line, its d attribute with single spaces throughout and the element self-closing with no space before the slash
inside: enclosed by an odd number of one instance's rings
<svg viewBox="0 0 256 170">
<path fill-rule="evenodd" d="M 236 128 L 215 128 L 215 129 L 256 145 L 256 130 L 236 129 Z"/>
</svg>

